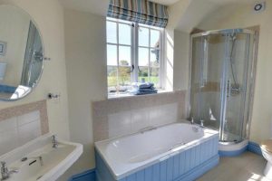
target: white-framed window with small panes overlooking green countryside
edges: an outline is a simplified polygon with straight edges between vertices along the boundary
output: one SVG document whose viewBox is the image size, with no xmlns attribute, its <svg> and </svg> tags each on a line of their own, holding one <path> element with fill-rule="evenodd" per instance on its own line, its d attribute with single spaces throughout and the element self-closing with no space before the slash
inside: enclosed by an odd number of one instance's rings
<svg viewBox="0 0 272 181">
<path fill-rule="evenodd" d="M 126 93 L 132 82 L 161 88 L 162 33 L 154 26 L 107 18 L 109 94 Z"/>
</svg>

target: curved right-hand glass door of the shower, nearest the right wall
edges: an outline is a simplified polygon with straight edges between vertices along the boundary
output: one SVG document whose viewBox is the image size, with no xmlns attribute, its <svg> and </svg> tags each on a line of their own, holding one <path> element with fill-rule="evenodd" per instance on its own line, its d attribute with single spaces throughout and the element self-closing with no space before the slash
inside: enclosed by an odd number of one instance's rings
<svg viewBox="0 0 272 181">
<path fill-rule="evenodd" d="M 220 140 L 239 142 L 245 137 L 243 133 L 248 119 L 248 79 L 252 66 L 253 38 L 248 33 L 228 34 L 226 59 L 222 76 L 224 82 L 224 115 L 221 123 Z"/>
</svg>

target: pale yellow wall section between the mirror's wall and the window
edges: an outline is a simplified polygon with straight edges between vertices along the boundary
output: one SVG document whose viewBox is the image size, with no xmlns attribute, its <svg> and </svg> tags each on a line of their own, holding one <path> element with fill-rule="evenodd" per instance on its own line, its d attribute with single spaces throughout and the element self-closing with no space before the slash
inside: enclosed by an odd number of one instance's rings
<svg viewBox="0 0 272 181">
<path fill-rule="evenodd" d="M 107 97 L 105 17 L 65 10 L 65 46 L 71 139 L 84 153 L 63 180 L 95 167 L 91 102 Z"/>
</svg>

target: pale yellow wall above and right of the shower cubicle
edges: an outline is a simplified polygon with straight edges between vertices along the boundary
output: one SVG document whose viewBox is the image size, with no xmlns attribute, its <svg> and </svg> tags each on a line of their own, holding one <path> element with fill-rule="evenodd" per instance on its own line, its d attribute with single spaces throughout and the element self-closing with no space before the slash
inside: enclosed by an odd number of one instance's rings
<svg viewBox="0 0 272 181">
<path fill-rule="evenodd" d="M 258 143 L 272 137 L 272 2 L 267 1 L 267 10 L 255 13 L 252 5 L 224 6 L 210 14 L 201 24 L 200 29 L 243 28 L 260 25 L 257 56 L 257 80 L 250 131 L 250 139 Z"/>
</svg>

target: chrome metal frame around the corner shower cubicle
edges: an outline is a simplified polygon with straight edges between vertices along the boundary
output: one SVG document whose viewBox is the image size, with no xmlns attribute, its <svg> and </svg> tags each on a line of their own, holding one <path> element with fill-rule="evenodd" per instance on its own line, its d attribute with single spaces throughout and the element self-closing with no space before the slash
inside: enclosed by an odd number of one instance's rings
<svg viewBox="0 0 272 181">
<path fill-rule="evenodd" d="M 256 29 L 256 27 L 254 27 L 254 29 Z M 258 29 L 258 28 L 257 28 Z M 254 37 L 253 40 L 253 54 L 252 54 L 252 63 L 251 63 L 251 72 L 250 72 L 250 77 L 248 77 L 248 79 L 250 79 L 250 81 L 248 81 L 250 83 L 249 85 L 249 100 L 248 100 L 248 111 L 247 111 L 247 124 L 243 126 L 243 129 L 245 131 L 245 135 L 243 139 L 248 139 L 249 138 L 249 134 L 250 134 L 250 123 L 251 123 L 251 119 L 252 119 L 252 110 L 253 110 L 253 100 L 254 100 L 254 88 L 255 88 L 255 81 L 256 81 L 256 68 L 257 68 L 257 43 L 258 43 L 258 30 L 256 31 L 252 31 L 252 30 L 248 30 L 248 29 L 223 29 L 223 30 L 212 30 L 212 31 L 207 31 L 207 32 L 202 32 L 202 33 L 192 33 L 190 34 L 190 44 L 189 44 L 189 98 L 188 98 L 188 111 L 189 111 L 189 115 L 191 112 L 191 79 L 192 79 L 192 53 L 193 53 L 193 38 L 196 37 L 201 37 L 201 36 L 208 36 L 210 34 L 230 34 L 230 33 L 246 33 L 246 34 L 250 34 Z M 249 67 L 248 67 L 249 69 Z M 221 91 L 221 90 L 220 90 Z M 189 118 L 190 119 L 190 118 Z M 244 121 L 244 120 L 243 120 Z M 220 119 L 220 127 L 219 127 L 219 132 L 222 132 L 221 129 L 222 128 L 222 120 Z M 227 142 L 224 143 L 226 145 L 232 145 L 232 144 L 237 144 L 238 142 Z"/>
</svg>

